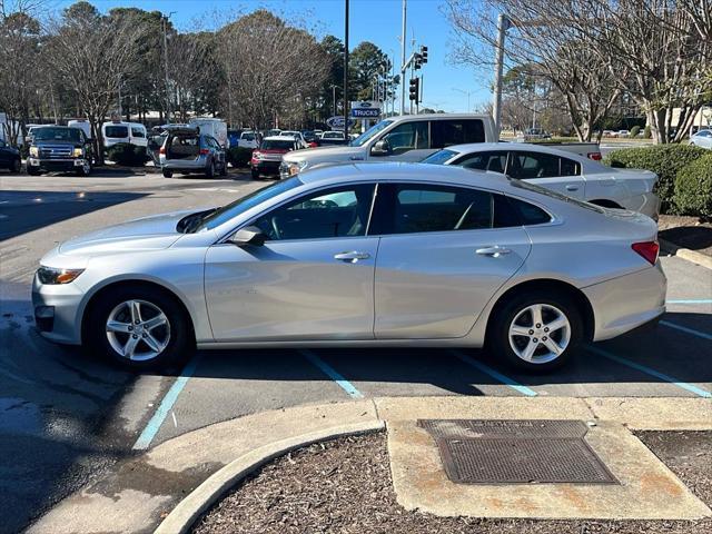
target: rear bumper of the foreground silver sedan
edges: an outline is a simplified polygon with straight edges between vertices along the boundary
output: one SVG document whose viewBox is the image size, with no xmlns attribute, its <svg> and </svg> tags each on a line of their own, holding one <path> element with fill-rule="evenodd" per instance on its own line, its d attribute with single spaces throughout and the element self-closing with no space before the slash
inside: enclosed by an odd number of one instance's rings
<svg viewBox="0 0 712 534">
<path fill-rule="evenodd" d="M 637 273 L 582 288 L 593 307 L 593 340 L 625 334 L 665 313 L 668 280 L 660 261 Z"/>
</svg>

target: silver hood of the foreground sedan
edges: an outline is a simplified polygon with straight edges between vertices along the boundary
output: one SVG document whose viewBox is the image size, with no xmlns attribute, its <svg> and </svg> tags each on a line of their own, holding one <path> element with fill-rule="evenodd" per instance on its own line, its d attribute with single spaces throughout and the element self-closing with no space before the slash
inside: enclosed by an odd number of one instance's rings
<svg viewBox="0 0 712 534">
<path fill-rule="evenodd" d="M 170 247 L 182 234 L 176 230 L 178 221 L 190 209 L 156 215 L 109 226 L 73 237 L 59 246 L 62 255 L 92 255 L 121 250 L 160 250 Z"/>
</svg>

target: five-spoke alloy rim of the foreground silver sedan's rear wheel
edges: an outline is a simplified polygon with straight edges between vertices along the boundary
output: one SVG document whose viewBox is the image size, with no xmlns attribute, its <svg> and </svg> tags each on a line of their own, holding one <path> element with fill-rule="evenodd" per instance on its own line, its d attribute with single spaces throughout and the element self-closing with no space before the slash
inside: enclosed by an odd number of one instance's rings
<svg viewBox="0 0 712 534">
<path fill-rule="evenodd" d="M 558 358 L 571 342 L 571 323 L 550 304 L 532 304 L 521 309 L 508 330 L 510 346 L 520 359 L 546 364 Z"/>
</svg>

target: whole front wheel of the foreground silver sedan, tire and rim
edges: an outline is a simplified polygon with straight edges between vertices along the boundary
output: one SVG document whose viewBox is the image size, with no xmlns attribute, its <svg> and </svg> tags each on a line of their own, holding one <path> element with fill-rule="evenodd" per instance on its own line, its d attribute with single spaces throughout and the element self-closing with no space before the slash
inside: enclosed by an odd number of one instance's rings
<svg viewBox="0 0 712 534">
<path fill-rule="evenodd" d="M 91 348 L 132 369 L 171 367 L 194 346 L 186 314 L 175 299 L 152 288 L 111 290 L 89 320 Z"/>
</svg>

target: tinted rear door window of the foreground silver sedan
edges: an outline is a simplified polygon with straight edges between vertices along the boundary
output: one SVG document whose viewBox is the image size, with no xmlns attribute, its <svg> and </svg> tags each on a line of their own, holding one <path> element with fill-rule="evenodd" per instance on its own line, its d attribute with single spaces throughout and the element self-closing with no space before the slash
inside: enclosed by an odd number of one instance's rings
<svg viewBox="0 0 712 534">
<path fill-rule="evenodd" d="M 490 192 L 451 186 L 392 184 L 379 186 L 375 234 L 474 230 L 492 228 Z"/>
</svg>

